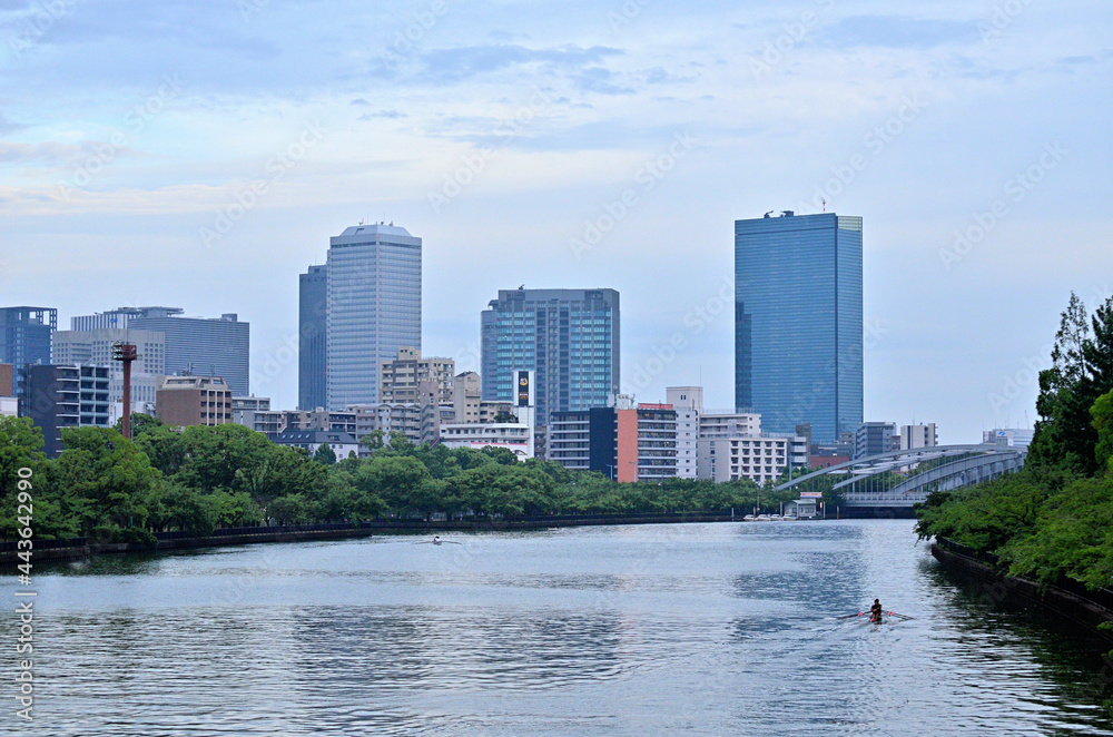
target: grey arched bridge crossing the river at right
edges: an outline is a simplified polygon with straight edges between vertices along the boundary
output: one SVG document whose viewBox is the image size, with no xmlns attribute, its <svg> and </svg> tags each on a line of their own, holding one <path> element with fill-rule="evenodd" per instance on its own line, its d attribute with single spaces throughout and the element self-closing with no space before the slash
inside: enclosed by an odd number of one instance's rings
<svg viewBox="0 0 1113 737">
<path fill-rule="evenodd" d="M 834 491 L 848 510 L 912 511 L 936 490 L 973 487 L 1024 466 L 1027 449 L 936 445 L 838 463 L 787 481 L 775 491 Z"/>
</svg>

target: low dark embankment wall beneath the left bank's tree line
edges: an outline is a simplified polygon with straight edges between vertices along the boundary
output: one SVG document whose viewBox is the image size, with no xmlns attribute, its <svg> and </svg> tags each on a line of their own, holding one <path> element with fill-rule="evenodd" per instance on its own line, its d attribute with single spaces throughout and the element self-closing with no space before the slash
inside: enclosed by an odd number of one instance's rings
<svg viewBox="0 0 1113 737">
<path fill-rule="evenodd" d="M 136 552 L 168 552 L 196 548 L 245 546 L 265 542 L 305 542 L 370 538 L 375 534 L 439 534 L 441 532 L 504 532 L 548 530 L 561 527 L 614 524 L 677 524 L 692 522 L 740 522 L 741 514 L 730 511 L 681 512 L 676 514 L 550 514 L 519 518 L 469 518 L 464 520 L 377 519 L 359 523 L 292 524 L 285 527 L 228 528 L 211 535 L 183 532 L 157 532 L 155 543 L 89 542 L 75 540 L 36 540 L 36 562 L 81 560 L 91 556 Z M 0 568 L 13 568 L 20 559 L 17 542 L 0 542 Z"/>
</svg>

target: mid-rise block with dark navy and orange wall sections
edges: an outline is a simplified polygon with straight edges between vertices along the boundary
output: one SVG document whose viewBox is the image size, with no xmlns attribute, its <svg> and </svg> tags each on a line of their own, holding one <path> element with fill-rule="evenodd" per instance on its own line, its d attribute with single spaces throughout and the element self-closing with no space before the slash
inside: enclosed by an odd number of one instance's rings
<svg viewBox="0 0 1113 737">
<path fill-rule="evenodd" d="M 570 470 L 597 471 L 620 483 L 677 475 L 677 412 L 668 404 L 610 406 L 550 414 L 546 458 Z"/>
</svg>

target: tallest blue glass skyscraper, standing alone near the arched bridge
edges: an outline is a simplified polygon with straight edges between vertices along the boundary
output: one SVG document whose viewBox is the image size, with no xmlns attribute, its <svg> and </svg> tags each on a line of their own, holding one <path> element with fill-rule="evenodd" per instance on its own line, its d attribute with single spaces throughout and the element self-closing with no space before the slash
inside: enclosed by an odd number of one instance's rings
<svg viewBox="0 0 1113 737">
<path fill-rule="evenodd" d="M 735 222 L 735 404 L 834 443 L 861 424 L 861 218 Z"/>
</svg>

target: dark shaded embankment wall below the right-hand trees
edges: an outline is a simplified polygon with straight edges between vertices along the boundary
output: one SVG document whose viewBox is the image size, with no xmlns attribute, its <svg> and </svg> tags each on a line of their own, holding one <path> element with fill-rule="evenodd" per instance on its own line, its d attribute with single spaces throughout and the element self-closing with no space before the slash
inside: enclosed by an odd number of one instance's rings
<svg viewBox="0 0 1113 737">
<path fill-rule="evenodd" d="M 1050 612 L 1080 625 L 1113 642 L 1113 632 L 1101 629 L 1113 622 L 1113 591 L 1090 591 L 1083 584 L 1061 580 L 1056 584 L 1040 583 L 1002 572 L 1001 561 L 992 553 L 981 552 L 946 538 L 936 538 L 932 556 L 948 570 L 982 583 L 986 594 L 1002 601 L 1009 597 L 1037 603 Z"/>
</svg>

